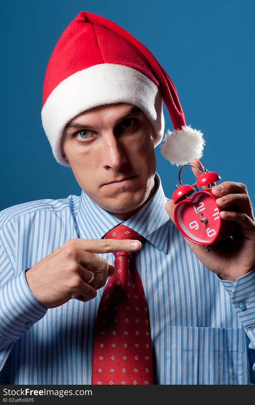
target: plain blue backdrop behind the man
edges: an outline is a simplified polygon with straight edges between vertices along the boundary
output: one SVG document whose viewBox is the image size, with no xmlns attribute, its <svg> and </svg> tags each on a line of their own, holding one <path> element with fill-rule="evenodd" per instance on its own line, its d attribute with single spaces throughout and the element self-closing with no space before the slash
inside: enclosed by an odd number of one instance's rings
<svg viewBox="0 0 255 405">
<path fill-rule="evenodd" d="M 221 181 L 254 178 L 254 1 L 78 0 L 2 2 L 2 193 L 0 210 L 41 198 L 80 195 L 59 165 L 41 123 L 42 85 L 51 53 L 80 11 L 102 15 L 152 51 L 175 83 L 186 123 L 207 141 L 201 162 Z M 165 132 L 172 130 L 164 106 Z M 157 172 L 171 198 L 179 168 L 156 147 Z M 192 184 L 191 168 L 182 171 Z"/>
</svg>

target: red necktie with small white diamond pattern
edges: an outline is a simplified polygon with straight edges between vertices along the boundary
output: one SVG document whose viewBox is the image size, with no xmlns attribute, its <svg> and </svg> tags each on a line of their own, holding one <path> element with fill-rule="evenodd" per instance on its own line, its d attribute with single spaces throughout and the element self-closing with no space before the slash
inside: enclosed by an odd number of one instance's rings
<svg viewBox="0 0 255 405">
<path fill-rule="evenodd" d="M 104 239 L 143 237 L 124 225 Z M 103 291 L 94 334 L 91 384 L 153 384 L 150 322 L 133 252 L 114 252 L 116 273 Z"/>
</svg>

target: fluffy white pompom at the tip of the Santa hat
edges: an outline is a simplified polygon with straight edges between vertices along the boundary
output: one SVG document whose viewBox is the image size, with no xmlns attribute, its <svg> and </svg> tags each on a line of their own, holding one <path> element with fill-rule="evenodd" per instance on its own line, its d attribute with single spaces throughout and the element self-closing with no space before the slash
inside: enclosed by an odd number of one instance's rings
<svg viewBox="0 0 255 405">
<path fill-rule="evenodd" d="M 190 163 L 193 158 L 200 159 L 204 149 L 205 141 L 200 130 L 191 128 L 191 126 L 182 126 L 181 130 L 166 132 L 160 145 L 161 154 L 177 166 Z"/>
</svg>

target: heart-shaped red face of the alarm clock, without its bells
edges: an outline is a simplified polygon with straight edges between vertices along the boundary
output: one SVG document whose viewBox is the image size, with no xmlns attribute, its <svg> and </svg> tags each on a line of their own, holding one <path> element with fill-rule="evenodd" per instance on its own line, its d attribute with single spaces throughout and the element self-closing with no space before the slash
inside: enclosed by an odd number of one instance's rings
<svg viewBox="0 0 255 405">
<path fill-rule="evenodd" d="M 216 199 L 211 189 L 206 189 L 177 204 L 175 224 L 187 239 L 198 245 L 211 245 L 217 239 L 221 217 Z"/>
</svg>

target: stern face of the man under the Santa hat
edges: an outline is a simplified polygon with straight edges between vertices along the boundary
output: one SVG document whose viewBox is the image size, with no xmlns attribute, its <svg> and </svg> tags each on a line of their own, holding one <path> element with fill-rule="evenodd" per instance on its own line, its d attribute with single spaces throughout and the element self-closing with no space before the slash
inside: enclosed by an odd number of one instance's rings
<svg viewBox="0 0 255 405">
<path fill-rule="evenodd" d="M 107 104 L 74 117 L 63 132 L 61 150 L 82 190 L 125 220 L 154 194 L 153 137 L 152 124 L 140 109 Z M 112 183 L 129 177 L 124 183 Z"/>
</svg>

